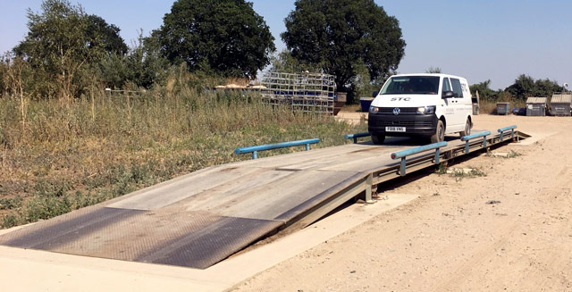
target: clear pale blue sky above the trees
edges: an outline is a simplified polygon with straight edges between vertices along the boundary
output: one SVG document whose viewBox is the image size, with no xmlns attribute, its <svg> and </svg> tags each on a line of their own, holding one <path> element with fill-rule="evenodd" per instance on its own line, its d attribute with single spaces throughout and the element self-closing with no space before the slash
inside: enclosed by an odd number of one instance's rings
<svg viewBox="0 0 572 292">
<path fill-rule="evenodd" d="M 293 0 L 251 1 L 265 18 L 278 49 L 284 18 Z M 130 45 L 138 30 L 145 35 L 163 23 L 172 1 L 71 0 L 90 14 L 117 25 Z M 572 83 L 572 1 L 375 1 L 400 21 L 407 42 L 401 73 L 440 67 L 466 77 L 469 83 L 491 79 L 491 87 L 506 88 L 519 74 L 534 79 Z M 38 12 L 40 0 L 0 0 L 0 52 L 10 50 L 27 33 L 26 10 Z M 569 89 L 569 88 L 568 88 Z"/>
</svg>

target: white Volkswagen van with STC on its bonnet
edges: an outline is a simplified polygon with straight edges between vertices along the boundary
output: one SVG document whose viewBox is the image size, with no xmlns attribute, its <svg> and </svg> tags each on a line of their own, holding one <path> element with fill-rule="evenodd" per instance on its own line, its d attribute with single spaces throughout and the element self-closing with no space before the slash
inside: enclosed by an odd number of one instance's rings
<svg viewBox="0 0 572 292">
<path fill-rule="evenodd" d="M 473 104 L 467 79 L 447 74 L 391 76 L 369 107 L 368 130 L 374 144 L 386 136 L 470 135 Z"/>
</svg>

